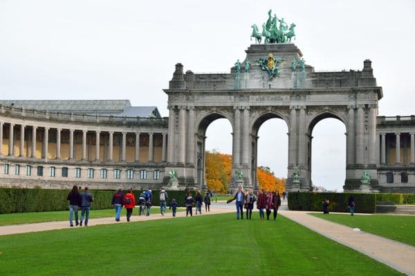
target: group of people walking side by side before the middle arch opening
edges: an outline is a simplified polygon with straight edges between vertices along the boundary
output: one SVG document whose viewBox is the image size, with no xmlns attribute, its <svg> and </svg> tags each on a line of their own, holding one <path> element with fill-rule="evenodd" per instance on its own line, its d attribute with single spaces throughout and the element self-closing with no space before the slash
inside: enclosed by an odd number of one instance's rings
<svg viewBox="0 0 415 276">
<path fill-rule="evenodd" d="M 266 211 L 266 219 L 270 219 L 271 211 L 274 211 L 274 220 L 277 219 L 278 208 L 281 206 L 281 197 L 279 197 L 279 191 L 265 192 L 263 189 L 258 191 L 255 195 L 252 189 L 248 190 L 248 193 L 244 193 L 242 187 L 238 187 L 237 193 L 235 193 L 232 199 L 226 201 L 230 203 L 236 201 L 237 206 L 237 219 L 241 217 L 243 219 L 243 208 L 246 208 L 246 219 L 252 219 L 252 209 L 254 203 L 257 201 L 257 209 L 259 210 L 259 219 L 264 220 L 264 210 Z"/>
</svg>

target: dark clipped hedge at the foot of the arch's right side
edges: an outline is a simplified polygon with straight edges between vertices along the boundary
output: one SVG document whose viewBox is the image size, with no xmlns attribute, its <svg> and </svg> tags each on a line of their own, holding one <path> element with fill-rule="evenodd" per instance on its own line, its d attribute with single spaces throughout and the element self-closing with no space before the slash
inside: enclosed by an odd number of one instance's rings
<svg viewBox="0 0 415 276">
<path fill-rule="evenodd" d="M 356 213 L 375 213 L 376 194 L 291 192 L 288 194 L 288 208 L 290 210 L 322 211 L 322 202 L 324 199 L 329 199 L 329 211 L 348 212 L 350 195 L 353 195 L 356 202 Z"/>
</svg>

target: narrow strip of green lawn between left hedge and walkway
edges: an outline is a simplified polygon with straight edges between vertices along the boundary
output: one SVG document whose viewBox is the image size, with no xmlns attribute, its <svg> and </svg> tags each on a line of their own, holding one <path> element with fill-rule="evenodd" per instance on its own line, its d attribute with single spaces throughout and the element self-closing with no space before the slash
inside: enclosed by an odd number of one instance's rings
<svg viewBox="0 0 415 276">
<path fill-rule="evenodd" d="M 178 209 L 180 212 L 183 209 Z M 167 212 L 171 212 L 169 207 L 167 207 Z M 124 217 L 126 215 L 126 210 L 122 208 L 121 215 Z M 160 213 L 160 206 L 151 206 L 151 214 Z M 78 215 L 81 216 L 81 211 L 78 212 Z M 138 208 L 134 208 L 133 215 L 138 215 Z M 116 211 L 114 209 L 105 209 L 105 210 L 91 210 L 89 212 L 90 219 L 97 219 L 99 217 L 115 217 Z M 47 222 L 47 221 L 64 221 L 69 219 L 69 211 L 56 211 L 56 212 L 34 212 L 34 213 L 12 213 L 12 214 L 2 214 L 0 215 L 0 226 L 12 225 L 12 224 L 33 224 L 37 222 Z M 75 219 L 75 215 L 73 217 Z"/>
</svg>

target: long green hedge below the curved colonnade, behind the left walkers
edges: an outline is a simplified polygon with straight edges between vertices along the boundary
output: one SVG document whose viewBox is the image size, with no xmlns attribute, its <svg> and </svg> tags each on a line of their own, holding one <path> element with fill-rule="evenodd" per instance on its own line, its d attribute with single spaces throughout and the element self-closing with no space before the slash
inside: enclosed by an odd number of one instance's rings
<svg viewBox="0 0 415 276">
<path fill-rule="evenodd" d="M 0 188 L 0 214 L 24 213 L 24 212 L 46 212 L 68 210 L 66 197 L 71 190 L 42 189 L 42 188 Z M 92 210 L 111 208 L 111 199 L 114 190 L 89 190 L 93 196 Z M 124 191 L 125 193 L 125 191 Z M 138 201 L 140 191 L 134 190 L 133 194 Z M 170 190 L 167 204 L 176 199 L 180 206 L 184 206 L 185 190 Z M 194 196 L 195 192 L 192 191 Z M 158 206 L 159 192 L 152 193 L 152 204 Z"/>
</svg>

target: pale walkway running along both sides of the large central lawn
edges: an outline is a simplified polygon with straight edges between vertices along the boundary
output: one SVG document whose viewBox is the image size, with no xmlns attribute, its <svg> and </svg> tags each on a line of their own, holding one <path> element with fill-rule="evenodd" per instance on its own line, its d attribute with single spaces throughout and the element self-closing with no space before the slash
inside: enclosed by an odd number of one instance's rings
<svg viewBox="0 0 415 276">
<path fill-rule="evenodd" d="M 156 208 L 156 207 L 154 207 Z M 234 204 L 225 204 L 224 202 L 214 202 L 210 208 L 208 215 L 215 215 L 219 213 L 235 212 Z M 378 260 L 387 266 L 391 266 L 402 273 L 407 275 L 415 275 L 415 247 L 400 242 L 394 242 L 384 237 L 372 235 L 365 232 L 356 232 L 353 228 L 335 224 L 331 221 L 326 221 L 318 217 L 308 215 L 311 212 L 302 211 L 290 211 L 286 206 L 286 201 L 283 201 L 281 215 L 292 219 L 311 230 L 333 239 L 340 244 L 344 244 L 350 248 L 358 250 L 371 258 Z M 203 215 L 206 215 L 203 212 Z M 357 214 L 359 215 L 359 214 Z M 185 212 L 178 212 L 177 217 L 185 217 Z M 166 219 L 172 218 L 171 213 L 167 213 L 165 216 L 160 214 L 151 214 L 149 217 L 145 216 L 132 216 L 131 221 L 146 221 L 153 219 Z M 125 216 L 122 217 L 122 221 L 116 222 L 113 217 L 102 219 L 90 219 L 89 226 L 95 226 L 99 224 L 114 224 L 114 223 L 127 223 Z M 0 235 L 11 235 L 17 233 L 28 233 L 44 230 L 55 230 L 68 228 L 68 221 L 53 221 L 39 224 L 23 224 L 16 226 L 0 226 Z M 76 228 L 76 227 L 74 227 Z"/>
</svg>

